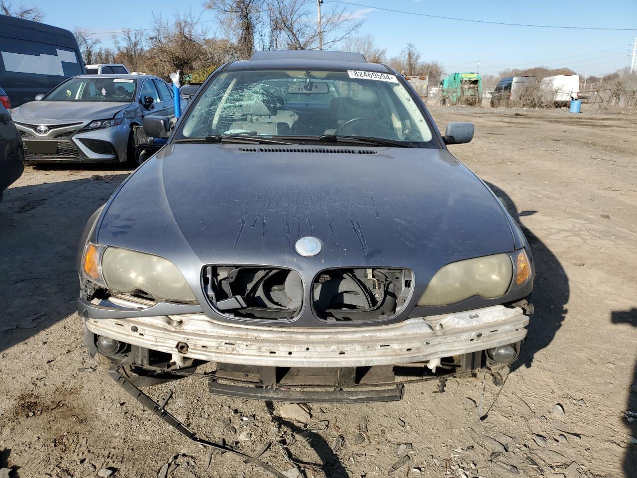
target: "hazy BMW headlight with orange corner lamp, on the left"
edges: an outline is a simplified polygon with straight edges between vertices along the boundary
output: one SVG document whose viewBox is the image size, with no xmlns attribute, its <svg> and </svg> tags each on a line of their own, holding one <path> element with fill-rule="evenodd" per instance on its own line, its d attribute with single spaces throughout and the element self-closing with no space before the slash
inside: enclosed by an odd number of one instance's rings
<svg viewBox="0 0 637 478">
<path fill-rule="evenodd" d="M 140 290 L 160 300 L 197 300 L 180 270 L 164 257 L 88 243 L 82 264 L 87 279 L 115 293 Z"/>
</svg>

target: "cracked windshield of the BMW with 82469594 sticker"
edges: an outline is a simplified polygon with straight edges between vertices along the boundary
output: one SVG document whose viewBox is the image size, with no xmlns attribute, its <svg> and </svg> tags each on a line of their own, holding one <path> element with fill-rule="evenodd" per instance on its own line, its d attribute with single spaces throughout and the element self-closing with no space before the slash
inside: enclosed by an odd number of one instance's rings
<svg viewBox="0 0 637 478">
<path fill-rule="evenodd" d="M 432 138 L 426 119 L 396 76 L 296 70 L 221 73 L 197 101 L 182 135 L 292 141 L 375 138 L 404 145 Z"/>
</svg>

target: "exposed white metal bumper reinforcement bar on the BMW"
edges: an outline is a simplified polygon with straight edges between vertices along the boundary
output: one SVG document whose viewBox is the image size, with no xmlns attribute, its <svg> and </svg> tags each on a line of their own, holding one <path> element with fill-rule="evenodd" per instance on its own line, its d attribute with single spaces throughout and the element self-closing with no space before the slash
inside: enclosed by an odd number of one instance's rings
<svg viewBox="0 0 637 478">
<path fill-rule="evenodd" d="M 529 317 L 502 305 L 351 328 L 248 326 L 204 314 L 85 319 L 97 335 L 168 354 L 255 366 L 396 365 L 477 352 L 526 337 Z M 183 347 L 181 347 L 183 350 Z"/>
</svg>

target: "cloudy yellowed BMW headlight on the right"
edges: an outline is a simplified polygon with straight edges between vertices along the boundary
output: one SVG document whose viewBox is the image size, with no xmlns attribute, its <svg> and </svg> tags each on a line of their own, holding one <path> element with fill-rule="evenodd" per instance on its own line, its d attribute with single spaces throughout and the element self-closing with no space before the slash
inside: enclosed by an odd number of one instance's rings
<svg viewBox="0 0 637 478">
<path fill-rule="evenodd" d="M 528 260 L 526 264 L 528 266 Z M 513 262 L 509 254 L 476 257 L 447 264 L 431 279 L 418 305 L 436 307 L 473 296 L 489 299 L 503 296 L 512 278 Z"/>
</svg>

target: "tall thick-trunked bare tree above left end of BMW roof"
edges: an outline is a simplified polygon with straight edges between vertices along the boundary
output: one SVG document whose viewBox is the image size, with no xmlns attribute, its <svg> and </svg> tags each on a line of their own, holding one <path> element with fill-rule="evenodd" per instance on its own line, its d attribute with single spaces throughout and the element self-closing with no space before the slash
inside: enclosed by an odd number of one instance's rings
<svg viewBox="0 0 637 478">
<path fill-rule="evenodd" d="M 255 33 L 261 23 L 263 4 L 256 0 L 208 0 L 205 8 L 215 11 L 227 33 L 236 37 L 237 55 L 241 59 L 254 53 Z"/>
</svg>

